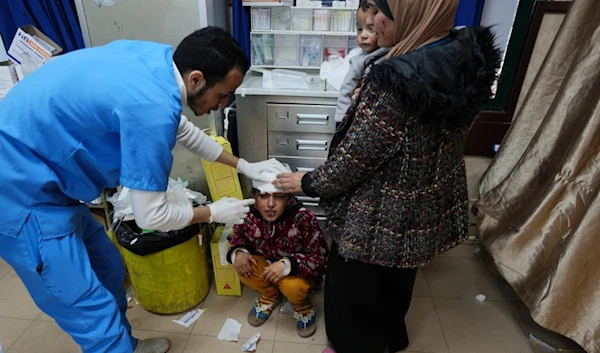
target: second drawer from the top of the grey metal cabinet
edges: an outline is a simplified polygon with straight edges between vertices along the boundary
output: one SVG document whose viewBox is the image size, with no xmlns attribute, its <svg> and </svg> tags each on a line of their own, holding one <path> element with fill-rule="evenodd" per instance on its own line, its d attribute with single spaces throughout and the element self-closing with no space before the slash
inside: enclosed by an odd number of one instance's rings
<svg viewBox="0 0 600 353">
<path fill-rule="evenodd" d="M 269 154 L 293 157 L 327 158 L 333 134 L 269 132 Z"/>
</svg>

